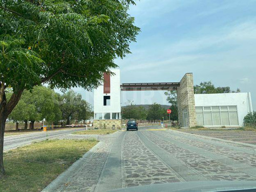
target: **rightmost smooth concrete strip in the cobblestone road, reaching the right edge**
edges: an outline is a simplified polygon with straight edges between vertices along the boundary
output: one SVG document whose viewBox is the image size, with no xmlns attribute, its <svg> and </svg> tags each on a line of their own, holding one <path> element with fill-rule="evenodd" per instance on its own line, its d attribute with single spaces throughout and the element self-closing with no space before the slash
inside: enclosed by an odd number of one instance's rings
<svg viewBox="0 0 256 192">
<path fill-rule="evenodd" d="M 240 170 L 241 173 L 243 172 L 243 173 L 246 173 L 246 174 L 256 178 L 256 168 L 251 167 L 248 164 L 240 163 L 240 162 L 234 161 L 230 158 L 223 157 L 221 155 L 211 153 L 207 150 L 204 150 L 203 148 L 199 148 L 199 147 L 196 147 L 196 146 L 186 144 L 184 142 L 177 141 L 175 139 L 166 137 L 166 136 L 164 136 L 162 134 L 159 134 L 159 133 L 155 133 L 155 134 L 158 137 L 161 137 L 162 139 L 164 139 L 165 141 L 168 141 L 170 143 L 175 143 L 175 145 L 177 145 L 179 147 L 182 147 L 182 148 L 189 148 L 189 151 L 191 151 L 191 152 L 200 154 L 200 155 L 202 155 L 202 156 L 204 156 L 204 157 L 206 157 L 210 160 L 219 161 L 219 162 L 221 162 L 222 164 L 224 164 L 226 166 L 230 166 L 232 168 L 236 168 L 236 169 Z"/>
</svg>

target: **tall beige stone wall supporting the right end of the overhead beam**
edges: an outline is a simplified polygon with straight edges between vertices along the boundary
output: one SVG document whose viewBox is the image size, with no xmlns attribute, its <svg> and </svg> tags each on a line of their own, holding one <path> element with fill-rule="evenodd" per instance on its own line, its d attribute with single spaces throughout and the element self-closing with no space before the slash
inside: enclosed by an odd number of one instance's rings
<svg viewBox="0 0 256 192">
<path fill-rule="evenodd" d="M 194 96 L 194 82 L 193 74 L 186 73 L 180 81 L 180 87 L 177 89 L 177 103 L 178 103 L 178 116 L 179 123 L 184 126 L 183 123 L 183 109 L 188 110 L 188 126 L 193 127 L 197 125 L 196 108 L 195 108 L 195 96 Z"/>
</svg>

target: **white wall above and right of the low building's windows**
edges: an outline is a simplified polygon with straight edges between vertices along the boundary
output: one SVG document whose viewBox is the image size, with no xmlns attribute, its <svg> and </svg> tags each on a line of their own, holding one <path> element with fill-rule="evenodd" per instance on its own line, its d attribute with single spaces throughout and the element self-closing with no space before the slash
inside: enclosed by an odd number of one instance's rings
<svg viewBox="0 0 256 192">
<path fill-rule="evenodd" d="M 239 125 L 243 126 L 244 117 L 252 112 L 250 93 L 195 94 L 196 106 L 237 105 Z"/>
</svg>

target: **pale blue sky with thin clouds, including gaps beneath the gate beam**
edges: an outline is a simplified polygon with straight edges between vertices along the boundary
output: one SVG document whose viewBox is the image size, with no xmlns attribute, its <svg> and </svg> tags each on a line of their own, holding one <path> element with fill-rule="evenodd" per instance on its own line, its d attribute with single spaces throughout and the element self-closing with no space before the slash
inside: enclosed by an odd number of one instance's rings
<svg viewBox="0 0 256 192">
<path fill-rule="evenodd" d="M 121 83 L 179 82 L 251 92 L 256 111 L 256 1 L 141 0 L 129 14 L 141 28 L 132 54 L 116 59 Z M 74 89 L 93 104 L 93 94 Z M 136 104 L 168 104 L 163 91 L 122 92 Z"/>
</svg>

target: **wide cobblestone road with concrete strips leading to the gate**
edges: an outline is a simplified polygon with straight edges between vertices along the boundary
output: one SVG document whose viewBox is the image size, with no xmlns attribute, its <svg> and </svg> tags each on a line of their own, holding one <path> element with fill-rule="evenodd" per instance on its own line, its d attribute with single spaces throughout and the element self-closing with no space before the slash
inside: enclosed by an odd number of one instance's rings
<svg viewBox="0 0 256 192">
<path fill-rule="evenodd" d="M 173 182 L 256 180 L 256 145 L 157 126 L 119 131 L 99 136 L 99 140 L 44 191 L 108 191 Z"/>
</svg>

